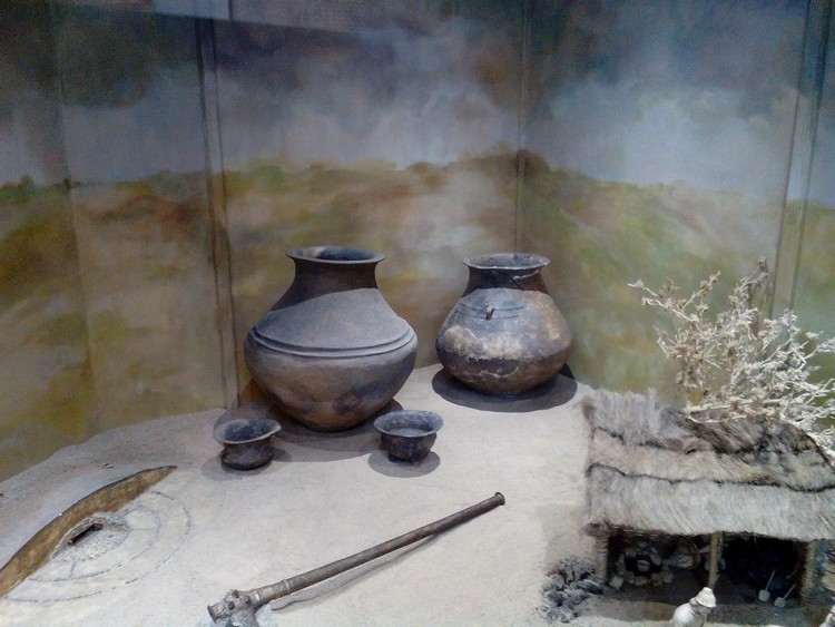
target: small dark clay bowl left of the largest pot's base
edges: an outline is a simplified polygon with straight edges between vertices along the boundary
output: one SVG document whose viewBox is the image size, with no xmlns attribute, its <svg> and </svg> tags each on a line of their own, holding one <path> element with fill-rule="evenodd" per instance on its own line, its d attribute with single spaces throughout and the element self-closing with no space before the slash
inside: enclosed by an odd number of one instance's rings
<svg viewBox="0 0 835 627">
<path fill-rule="evenodd" d="M 215 429 L 215 440 L 224 445 L 220 461 L 235 470 L 252 470 L 269 463 L 269 439 L 282 425 L 269 418 L 236 418 Z"/>
</svg>

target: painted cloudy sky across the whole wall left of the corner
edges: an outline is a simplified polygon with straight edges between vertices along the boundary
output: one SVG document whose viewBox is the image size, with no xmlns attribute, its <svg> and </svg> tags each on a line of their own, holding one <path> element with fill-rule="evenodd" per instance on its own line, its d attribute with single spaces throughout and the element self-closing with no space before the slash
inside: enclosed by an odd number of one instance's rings
<svg viewBox="0 0 835 627">
<path fill-rule="evenodd" d="M 216 22 L 226 166 L 278 157 L 405 167 L 514 148 L 521 6 L 474 2 L 465 16 L 426 7 L 409 20 L 345 32 Z M 69 172 L 81 182 L 202 169 L 194 22 L 77 7 L 56 17 L 60 124 L 21 123 L 17 112 L 0 119 L 0 178 L 55 176 L 32 138 L 53 147 L 63 139 Z M 27 28 L 31 37 L 52 32 L 48 23 Z M 18 55 L 14 74 L 30 80 L 11 92 L 12 104 L 39 98 L 31 111 L 46 110 L 58 89 L 55 80 L 31 80 L 36 61 L 33 50 Z M 26 158 L 4 143 L 26 145 Z"/>
</svg>

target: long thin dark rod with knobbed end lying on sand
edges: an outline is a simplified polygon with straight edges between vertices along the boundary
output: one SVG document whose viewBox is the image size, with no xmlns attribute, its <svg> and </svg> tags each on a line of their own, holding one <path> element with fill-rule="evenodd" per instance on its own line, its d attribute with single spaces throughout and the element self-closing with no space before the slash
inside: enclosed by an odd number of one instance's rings
<svg viewBox="0 0 835 627">
<path fill-rule="evenodd" d="M 376 545 L 370 549 L 332 561 L 325 566 L 320 566 L 318 568 L 303 572 L 302 575 L 296 575 L 289 579 L 278 581 L 277 584 L 252 590 L 229 590 L 226 592 L 224 600 L 208 606 L 209 616 L 216 623 L 228 619 L 225 623 L 222 623 L 222 625 L 227 627 L 257 627 L 258 620 L 255 617 L 255 611 L 262 605 L 286 597 L 302 588 L 307 588 L 308 586 L 330 579 L 335 575 L 351 570 L 352 568 L 371 561 L 372 559 L 382 557 L 407 545 L 434 536 L 435 533 L 446 531 L 452 527 L 461 525 L 477 516 L 481 516 L 501 504 L 504 504 L 504 497 L 501 492 L 497 492 L 489 499 L 475 503 L 474 506 L 470 506 L 466 509 L 462 509 L 446 518 L 441 518 L 440 520 L 419 527 L 418 529 L 397 536 L 396 538 L 392 538 L 391 540 L 386 540 L 385 542 Z"/>
</svg>

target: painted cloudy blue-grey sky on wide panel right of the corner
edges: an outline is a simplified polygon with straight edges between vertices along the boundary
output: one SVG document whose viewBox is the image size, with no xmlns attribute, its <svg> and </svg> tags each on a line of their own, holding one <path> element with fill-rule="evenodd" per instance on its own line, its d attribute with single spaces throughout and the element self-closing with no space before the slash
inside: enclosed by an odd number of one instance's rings
<svg viewBox="0 0 835 627">
<path fill-rule="evenodd" d="M 782 197 L 805 4 L 534 4 L 528 147 L 598 178 Z"/>
</svg>

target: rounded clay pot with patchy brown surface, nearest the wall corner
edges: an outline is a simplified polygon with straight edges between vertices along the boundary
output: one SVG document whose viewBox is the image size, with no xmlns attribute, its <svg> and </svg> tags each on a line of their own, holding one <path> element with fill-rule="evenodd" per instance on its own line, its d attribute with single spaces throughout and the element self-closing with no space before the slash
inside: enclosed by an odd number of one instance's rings
<svg viewBox="0 0 835 627">
<path fill-rule="evenodd" d="M 518 394 L 564 365 L 571 332 L 546 290 L 550 262 L 529 253 L 464 259 L 470 281 L 438 333 L 446 371 L 487 394 Z"/>
</svg>

